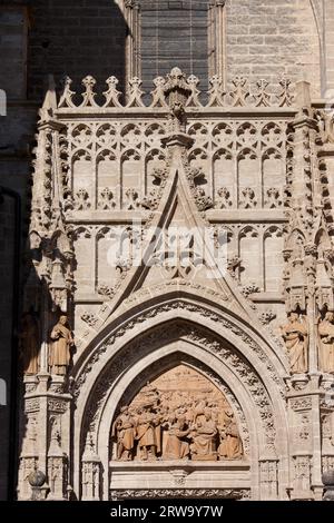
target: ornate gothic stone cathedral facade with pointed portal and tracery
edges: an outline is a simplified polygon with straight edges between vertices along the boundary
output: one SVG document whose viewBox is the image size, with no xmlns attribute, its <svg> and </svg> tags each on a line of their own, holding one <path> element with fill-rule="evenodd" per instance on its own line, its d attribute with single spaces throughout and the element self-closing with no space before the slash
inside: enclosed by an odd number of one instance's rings
<svg viewBox="0 0 334 523">
<path fill-rule="evenodd" d="M 95 65 L 78 87 L 68 62 L 58 89 L 47 46 L 18 499 L 322 500 L 334 471 L 333 6 L 109 3 L 124 62 L 104 80 Z"/>
</svg>

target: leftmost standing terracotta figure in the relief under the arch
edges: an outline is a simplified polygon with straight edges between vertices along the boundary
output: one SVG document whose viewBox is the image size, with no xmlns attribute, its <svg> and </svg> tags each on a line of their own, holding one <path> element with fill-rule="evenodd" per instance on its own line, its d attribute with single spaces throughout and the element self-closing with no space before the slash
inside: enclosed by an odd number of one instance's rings
<svg viewBox="0 0 334 523">
<path fill-rule="evenodd" d="M 112 436 L 117 441 L 117 460 L 130 461 L 135 450 L 135 420 L 129 413 L 129 407 L 121 407 L 112 425 Z"/>
</svg>

